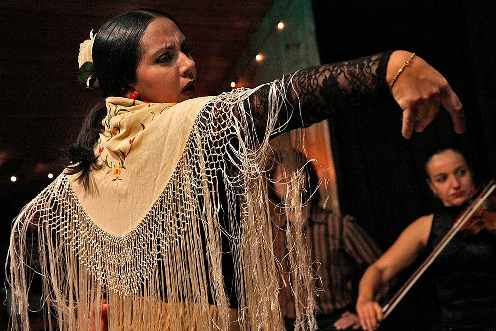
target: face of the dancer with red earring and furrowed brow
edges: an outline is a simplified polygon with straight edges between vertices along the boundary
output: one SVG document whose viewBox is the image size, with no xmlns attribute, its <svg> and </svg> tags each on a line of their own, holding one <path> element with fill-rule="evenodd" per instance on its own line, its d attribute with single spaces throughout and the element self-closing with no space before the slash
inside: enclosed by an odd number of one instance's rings
<svg viewBox="0 0 496 331">
<path fill-rule="evenodd" d="M 138 98 L 150 102 L 181 102 L 196 90 L 196 65 L 185 36 L 168 18 L 148 24 L 140 43 L 136 82 L 129 84 Z"/>
</svg>

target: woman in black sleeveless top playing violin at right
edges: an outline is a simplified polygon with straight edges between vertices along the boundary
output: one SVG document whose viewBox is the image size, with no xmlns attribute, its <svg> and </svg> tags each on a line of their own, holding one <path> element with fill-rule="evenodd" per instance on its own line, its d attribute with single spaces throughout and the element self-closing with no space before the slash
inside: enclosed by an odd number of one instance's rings
<svg viewBox="0 0 496 331">
<path fill-rule="evenodd" d="M 464 155 L 453 148 L 438 149 L 425 163 L 427 184 L 442 207 L 418 218 L 364 273 L 357 312 L 364 330 L 375 330 L 383 319 L 374 300 L 378 289 L 431 250 L 452 227 L 456 216 L 475 195 L 474 174 Z M 458 234 L 434 261 L 440 318 L 433 330 L 493 330 L 496 325 L 496 236 L 483 229 Z"/>
</svg>

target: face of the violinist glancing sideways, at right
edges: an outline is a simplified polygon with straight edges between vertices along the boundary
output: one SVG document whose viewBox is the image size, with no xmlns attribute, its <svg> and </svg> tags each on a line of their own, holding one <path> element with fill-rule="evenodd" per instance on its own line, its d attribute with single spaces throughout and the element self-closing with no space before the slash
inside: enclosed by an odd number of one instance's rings
<svg viewBox="0 0 496 331">
<path fill-rule="evenodd" d="M 460 206 L 475 193 L 475 185 L 463 155 L 448 149 L 435 154 L 426 165 L 427 183 L 446 207 Z"/>
</svg>

